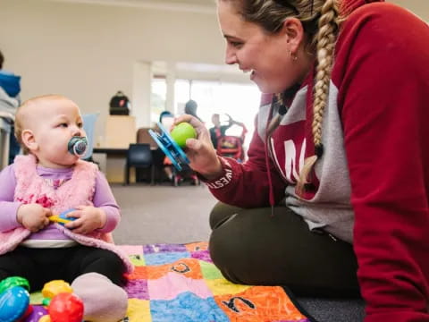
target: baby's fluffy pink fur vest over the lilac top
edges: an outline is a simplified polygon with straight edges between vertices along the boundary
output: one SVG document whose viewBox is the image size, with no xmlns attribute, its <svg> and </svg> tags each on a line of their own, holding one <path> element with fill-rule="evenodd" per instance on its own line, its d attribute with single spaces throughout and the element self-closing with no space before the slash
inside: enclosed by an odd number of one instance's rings
<svg viewBox="0 0 429 322">
<path fill-rule="evenodd" d="M 93 205 L 92 198 L 96 189 L 97 165 L 79 160 L 74 166 L 71 179 L 64 182 L 56 190 L 38 175 L 36 157 L 32 155 L 16 157 L 13 167 L 16 177 L 15 201 L 20 201 L 23 204 L 38 203 L 45 208 L 51 208 L 56 215 L 79 205 Z M 132 271 L 133 266 L 130 259 L 114 245 L 111 233 L 92 232 L 82 235 L 72 233 L 63 225 L 54 225 L 66 236 L 82 245 L 113 251 L 122 258 L 127 267 L 127 272 Z M 30 233 L 24 227 L 0 233 L 0 255 L 14 250 Z"/>
</svg>

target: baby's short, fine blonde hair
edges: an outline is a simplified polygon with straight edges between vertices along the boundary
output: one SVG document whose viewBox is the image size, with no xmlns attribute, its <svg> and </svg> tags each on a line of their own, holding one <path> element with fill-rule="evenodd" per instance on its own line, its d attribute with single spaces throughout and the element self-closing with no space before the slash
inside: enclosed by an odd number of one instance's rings
<svg viewBox="0 0 429 322">
<path fill-rule="evenodd" d="M 22 141 L 22 131 L 26 130 L 26 117 L 28 117 L 28 109 L 30 106 L 35 106 L 39 104 L 43 104 L 46 102 L 46 100 L 62 100 L 62 99 L 69 99 L 67 97 L 63 97 L 62 95 L 57 94 L 47 94 L 47 95 L 41 95 L 38 97 L 32 97 L 24 101 L 21 106 L 18 107 L 16 115 L 15 115 L 15 138 L 18 140 L 18 142 L 21 145 L 22 153 L 24 155 L 29 154 L 29 148 L 24 144 Z"/>
</svg>

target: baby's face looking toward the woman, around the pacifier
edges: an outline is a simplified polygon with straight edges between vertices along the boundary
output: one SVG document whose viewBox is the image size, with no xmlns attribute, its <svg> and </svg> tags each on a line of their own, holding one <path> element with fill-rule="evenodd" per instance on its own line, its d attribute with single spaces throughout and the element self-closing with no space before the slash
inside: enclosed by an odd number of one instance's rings
<svg viewBox="0 0 429 322">
<path fill-rule="evenodd" d="M 38 163 L 51 168 L 74 165 L 79 157 L 72 155 L 67 145 L 73 136 L 86 136 L 79 107 L 66 98 L 46 99 L 29 107 L 28 129 L 36 145 L 31 152 Z"/>
</svg>

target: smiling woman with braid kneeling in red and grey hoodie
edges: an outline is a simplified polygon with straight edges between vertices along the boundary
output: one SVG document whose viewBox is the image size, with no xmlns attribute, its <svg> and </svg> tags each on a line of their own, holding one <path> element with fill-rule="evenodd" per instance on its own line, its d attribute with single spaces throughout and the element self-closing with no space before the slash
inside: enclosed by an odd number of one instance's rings
<svg viewBox="0 0 429 322">
<path fill-rule="evenodd" d="M 218 16 L 226 63 L 272 94 L 242 165 L 176 120 L 236 206 L 211 214 L 215 265 L 235 283 L 360 291 L 366 322 L 429 321 L 427 24 L 382 0 L 219 0 Z"/>
</svg>

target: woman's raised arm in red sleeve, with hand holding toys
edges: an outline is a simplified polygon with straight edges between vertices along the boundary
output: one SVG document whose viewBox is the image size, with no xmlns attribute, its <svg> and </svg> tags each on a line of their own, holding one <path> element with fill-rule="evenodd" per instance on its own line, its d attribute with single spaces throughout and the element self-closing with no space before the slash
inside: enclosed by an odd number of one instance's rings
<svg viewBox="0 0 429 322">
<path fill-rule="evenodd" d="M 257 131 L 248 149 L 248 160 L 240 164 L 230 157 L 218 157 L 204 125 L 188 116 L 181 116 L 175 123 L 190 122 L 198 132 L 198 139 L 187 140 L 187 155 L 190 166 L 203 175 L 214 197 L 224 203 L 240 208 L 269 206 L 270 182 L 265 163 L 265 142 Z M 209 140 L 209 139 L 208 139 Z M 207 143 L 208 142 L 208 143 Z M 275 202 L 284 197 L 286 183 L 277 173 L 273 162 L 268 157 L 271 170 L 272 188 Z"/>
</svg>

